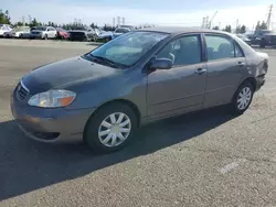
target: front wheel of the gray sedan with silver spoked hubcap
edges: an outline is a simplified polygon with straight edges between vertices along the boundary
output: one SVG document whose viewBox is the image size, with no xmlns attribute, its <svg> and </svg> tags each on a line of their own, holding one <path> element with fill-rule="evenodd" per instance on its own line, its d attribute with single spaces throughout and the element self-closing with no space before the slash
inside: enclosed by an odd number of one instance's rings
<svg viewBox="0 0 276 207">
<path fill-rule="evenodd" d="M 112 115 L 115 115 L 114 118 L 116 121 L 119 121 L 119 117 L 123 115 L 123 128 L 120 128 L 118 123 L 116 123 L 117 126 L 112 124 Z M 104 121 L 108 124 L 104 124 Z M 129 123 L 127 123 L 128 121 Z M 130 143 L 134 139 L 137 126 L 137 116 L 134 110 L 123 102 L 114 102 L 99 108 L 98 111 L 91 117 L 85 127 L 83 139 L 95 152 L 110 153 L 121 150 Z M 123 132 L 123 129 L 129 131 Z M 99 134 L 100 131 L 104 132 L 102 135 Z M 117 134 L 119 134 L 120 138 Z"/>
</svg>

